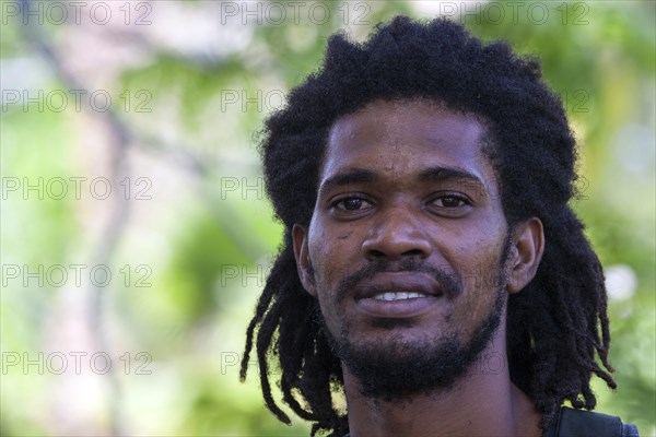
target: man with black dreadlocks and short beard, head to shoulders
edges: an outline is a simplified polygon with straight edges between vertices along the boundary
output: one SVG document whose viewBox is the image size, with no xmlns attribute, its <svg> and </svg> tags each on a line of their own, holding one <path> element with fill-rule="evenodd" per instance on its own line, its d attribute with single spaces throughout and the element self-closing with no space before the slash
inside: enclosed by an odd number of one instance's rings
<svg viewBox="0 0 656 437">
<path fill-rule="evenodd" d="M 601 265 L 567 205 L 575 141 L 535 60 L 397 17 L 332 36 L 266 133 L 285 235 L 242 378 L 255 338 L 278 418 L 270 362 L 313 434 L 637 435 L 561 409 L 594 409 L 593 374 L 616 383 Z"/>
</svg>

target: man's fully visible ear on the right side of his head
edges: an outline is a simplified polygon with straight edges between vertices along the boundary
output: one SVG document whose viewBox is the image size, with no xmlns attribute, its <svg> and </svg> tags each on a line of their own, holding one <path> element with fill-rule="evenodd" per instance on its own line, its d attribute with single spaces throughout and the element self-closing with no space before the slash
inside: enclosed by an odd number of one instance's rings
<svg viewBox="0 0 656 437">
<path fill-rule="evenodd" d="M 536 275 L 544 250 L 542 222 L 532 217 L 517 225 L 513 232 L 511 256 L 507 263 L 508 293 L 518 293 Z"/>
</svg>

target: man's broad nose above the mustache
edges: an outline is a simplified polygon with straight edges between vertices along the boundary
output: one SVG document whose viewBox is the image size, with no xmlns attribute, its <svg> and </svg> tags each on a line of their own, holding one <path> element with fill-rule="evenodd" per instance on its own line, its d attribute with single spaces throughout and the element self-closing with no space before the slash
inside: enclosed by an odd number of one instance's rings
<svg viewBox="0 0 656 437">
<path fill-rule="evenodd" d="M 376 259 L 399 260 L 403 257 L 426 259 L 432 245 L 421 221 L 405 208 L 394 208 L 380 214 L 362 245 L 370 261 Z"/>
</svg>

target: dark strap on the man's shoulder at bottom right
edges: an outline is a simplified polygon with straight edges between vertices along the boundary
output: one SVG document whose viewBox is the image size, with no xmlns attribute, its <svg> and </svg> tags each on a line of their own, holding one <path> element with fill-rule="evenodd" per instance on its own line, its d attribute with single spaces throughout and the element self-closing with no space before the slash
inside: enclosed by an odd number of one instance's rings
<svg viewBox="0 0 656 437">
<path fill-rule="evenodd" d="M 555 437 L 621 437 L 622 421 L 608 414 L 562 408 Z"/>
</svg>

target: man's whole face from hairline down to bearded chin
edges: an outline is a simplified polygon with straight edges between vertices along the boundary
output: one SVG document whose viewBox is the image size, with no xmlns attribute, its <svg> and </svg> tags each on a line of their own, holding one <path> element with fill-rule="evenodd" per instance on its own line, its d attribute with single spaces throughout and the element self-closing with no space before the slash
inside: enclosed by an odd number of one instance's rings
<svg viewBox="0 0 656 437">
<path fill-rule="evenodd" d="M 333 347 L 361 380 L 378 364 L 387 380 L 442 366 L 446 379 L 432 383 L 448 387 L 503 327 L 508 232 L 484 134 L 424 102 L 375 102 L 333 125 L 294 246 Z"/>
</svg>

